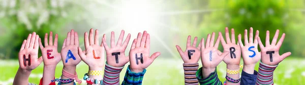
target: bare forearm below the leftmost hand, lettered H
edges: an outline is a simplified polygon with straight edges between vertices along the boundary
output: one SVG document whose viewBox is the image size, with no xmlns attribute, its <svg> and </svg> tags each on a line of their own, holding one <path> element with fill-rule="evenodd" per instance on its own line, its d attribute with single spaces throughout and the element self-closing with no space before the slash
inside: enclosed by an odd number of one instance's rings
<svg viewBox="0 0 305 85">
<path fill-rule="evenodd" d="M 31 74 L 31 71 L 28 70 L 22 70 L 20 67 L 18 68 L 18 71 L 15 75 L 15 79 L 13 81 L 14 85 L 22 85 L 22 84 L 28 84 L 28 77 L 29 74 Z"/>
</svg>

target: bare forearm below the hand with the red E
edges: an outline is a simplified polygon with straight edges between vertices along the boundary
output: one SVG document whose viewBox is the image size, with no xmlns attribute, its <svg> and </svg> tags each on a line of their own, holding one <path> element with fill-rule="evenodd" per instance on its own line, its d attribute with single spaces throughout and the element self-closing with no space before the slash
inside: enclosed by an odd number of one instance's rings
<svg viewBox="0 0 305 85">
<path fill-rule="evenodd" d="M 55 66 L 44 66 L 43 67 L 43 76 L 42 76 L 42 84 L 50 84 L 51 80 L 54 79 L 55 76 Z"/>
</svg>

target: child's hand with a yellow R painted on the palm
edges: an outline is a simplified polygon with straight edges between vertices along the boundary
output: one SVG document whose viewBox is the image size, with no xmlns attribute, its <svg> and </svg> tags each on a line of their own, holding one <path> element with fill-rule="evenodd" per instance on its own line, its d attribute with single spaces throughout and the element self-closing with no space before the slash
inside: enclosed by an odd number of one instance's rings
<svg viewBox="0 0 305 85">
<path fill-rule="evenodd" d="M 231 29 L 231 39 L 232 40 L 230 40 L 228 27 L 225 28 L 225 33 L 226 33 L 227 43 L 226 43 L 224 37 L 222 36 L 221 32 L 219 32 L 220 41 L 224 48 L 224 52 L 230 52 L 230 53 L 229 53 L 229 55 L 225 56 L 223 61 L 227 65 L 234 65 L 234 66 L 239 67 L 241 51 L 240 51 L 239 44 L 235 43 L 234 29 L 233 28 Z"/>
</svg>

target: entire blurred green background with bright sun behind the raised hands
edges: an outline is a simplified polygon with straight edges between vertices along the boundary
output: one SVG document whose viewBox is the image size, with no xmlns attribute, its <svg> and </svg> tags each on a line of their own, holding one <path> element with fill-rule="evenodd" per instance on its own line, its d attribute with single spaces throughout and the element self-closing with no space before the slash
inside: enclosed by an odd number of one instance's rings
<svg viewBox="0 0 305 85">
<path fill-rule="evenodd" d="M 253 27 L 260 31 L 264 44 L 267 30 L 273 37 L 276 29 L 280 29 L 286 33 L 280 53 L 290 51 L 292 55 L 275 71 L 275 84 L 302 84 L 305 80 L 304 0 L 0 0 L 0 3 L 0 84 L 12 84 L 19 67 L 17 54 L 29 33 L 35 31 L 40 37 L 50 31 L 58 33 L 60 51 L 71 29 L 78 32 L 80 47 L 84 48 L 83 33 L 90 28 L 99 29 L 100 39 L 105 33 L 108 40 L 111 31 L 116 39 L 120 30 L 131 33 L 132 38 L 144 30 L 150 33 L 150 51 L 161 52 L 161 56 L 147 68 L 143 84 L 184 84 L 183 61 L 175 45 L 185 49 L 188 35 L 205 38 L 211 32 L 224 34 L 224 28 L 229 27 L 235 29 L 237 40 L 239 33 L 243 35 L 245 29 Z M 219 49 L 223 51 L 221 46 Z M 62 67 L 59 63 L 55 77 L 61 75 Z M 225 68 L 223 62 L 218 66 L 222 81 Z M 81 62 L 77 72 L 82 75 L 87 69 Z M 125 71 L 126 67 L 121 80 Z M 42 72 L 43 65 L 33 70 L 30 82 L 38 84 Z"/>
</svg>

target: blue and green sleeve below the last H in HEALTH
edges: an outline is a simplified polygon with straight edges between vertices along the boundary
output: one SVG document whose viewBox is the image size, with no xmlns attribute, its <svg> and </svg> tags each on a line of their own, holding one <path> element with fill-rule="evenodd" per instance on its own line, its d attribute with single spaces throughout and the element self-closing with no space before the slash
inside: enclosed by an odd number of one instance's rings
<svg viewBox="0 0 305 85">
<path fill-rule="evenodd" d="M 142 72 L 135 73 L 130 70 L 129 66 L 130 65 L 128 65 L 128 68 L 126 70 L 126 74 L 124 77 L 124 81 L 122 82 L 122 85 L 142 84 L 143 76 L 146 72 L 146 69 L 144 69 Z"/>
</svg>

